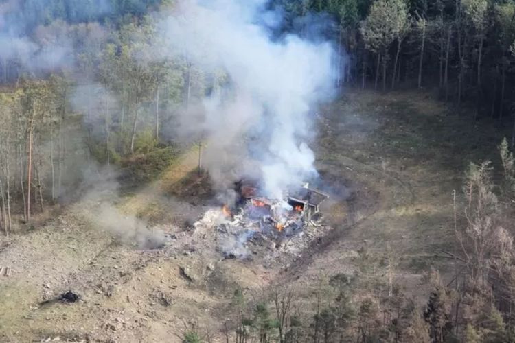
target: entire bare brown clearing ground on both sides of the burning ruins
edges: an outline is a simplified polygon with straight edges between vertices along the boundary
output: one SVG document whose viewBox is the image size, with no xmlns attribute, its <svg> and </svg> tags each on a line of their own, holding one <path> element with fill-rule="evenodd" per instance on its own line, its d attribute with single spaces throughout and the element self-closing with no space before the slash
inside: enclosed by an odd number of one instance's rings
<svg viewBox="0 0 515 343">
<path fill-rule="evenodd" d="M 192 150 L 157 182 L 115 202 L 122 216 L 165 232 L 164 248 L 134 246 L 99 228 L 102 205 L 93 200 L 1 237 L 0 266 L 12 274 L 0 276 L 0 341 L 181 342 L 192 325 L 221 340 L 234 289 L 259 298 L 290 285 L 302 298 L 322 277 L 352 273 L 364 246 L 393 255 L 394 280 L 422 304 L 422 274 L 452 268 L 441 253 L 452 250 L 451 193 L 469 161 L 495 156 L 501 136 L 492 123 L 456 117 L 418 92 L 346 91 L 321 108 L 317 126 L 311 145 L 331 201 L 311 239 L 293 250 L 256 241 L 250 259 L 222 259 L 214 230 L 191 229 L 214 205 Z M 68 290 L 80 300 L 52 301 Z"/>
</svg>

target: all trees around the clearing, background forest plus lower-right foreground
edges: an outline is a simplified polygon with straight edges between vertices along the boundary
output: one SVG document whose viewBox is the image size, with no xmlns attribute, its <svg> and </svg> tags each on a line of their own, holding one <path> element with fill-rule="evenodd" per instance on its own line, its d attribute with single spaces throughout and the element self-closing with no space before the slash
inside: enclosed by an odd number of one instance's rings
<svg viewBox="0 0 515 343">
<path fill-rule="evenodd" d="M 203 139 L 181 132 L 177 118 L 231 80 L 185 51 L 165 51 L 162 19 L 181 15 L 176 2 L 0 2 L 5 235 L 75 199 L 85 169 L 159 162 Z M 456 240 L 448 255 L 463 267 L 450 282 L 427 273 L 433 292 L 424 309 L 400 285 L 376 278 L 389 255 L 362 249 L 352 277 L 320 281 L 313 311 L 300 311 L 296 304 L 304 300 L 287 287 L 259 302 L 237 289 L 224 324 L 227 342 L 513 342 L 515 2 L 274 0 L 262 6 L 280 14 L 269 27 L 273 39 L 295 33 L 330 40 L 339 91 L 431 90 L 479 130 L 494 126 L 510 135 L 492 152 L 502 162 L 496 174 L 488 161 L 471 164 L 463 191 L 454 193 Z M 201 342 L 200 336 L 192 329 L 184 341 Z"/>
</svg>

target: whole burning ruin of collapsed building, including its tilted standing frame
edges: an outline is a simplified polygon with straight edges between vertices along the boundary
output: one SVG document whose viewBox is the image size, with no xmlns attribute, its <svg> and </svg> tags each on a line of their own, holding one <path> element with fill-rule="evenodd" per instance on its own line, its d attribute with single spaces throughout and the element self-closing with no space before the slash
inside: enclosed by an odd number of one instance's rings
<svg viewBox="0 0 515 343">
<path fill-rule="evenodd" d="M 211 209 L 194 224 L 196 230 L 216 232 L 225 259 L 252 257 L 263 247 L 295 255 L 325 228 L 319 206 L 329 196 L 308 184 L 279 200 L 261 196 L 257 187 L 244 182 L 236 184 L 236 191 L 236 204 Z"/>
</svg>

